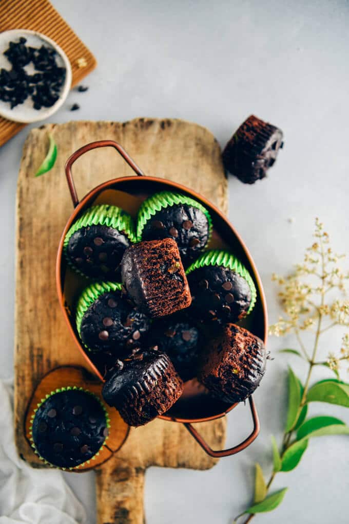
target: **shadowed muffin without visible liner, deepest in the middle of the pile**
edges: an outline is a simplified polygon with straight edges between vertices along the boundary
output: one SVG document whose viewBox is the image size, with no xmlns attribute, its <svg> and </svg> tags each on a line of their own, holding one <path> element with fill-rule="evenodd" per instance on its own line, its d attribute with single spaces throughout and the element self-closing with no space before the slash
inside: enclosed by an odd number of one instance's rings
<svg viewBox="0 0 349 524">
<path fill-rule="evenodd" d="M 152 326 L 149 341 L 150 347 L 167 353 L 182 380 L 194 378 L 201 341 L 193 323 L 179 318 L 159 320 Z"/>
</svg>

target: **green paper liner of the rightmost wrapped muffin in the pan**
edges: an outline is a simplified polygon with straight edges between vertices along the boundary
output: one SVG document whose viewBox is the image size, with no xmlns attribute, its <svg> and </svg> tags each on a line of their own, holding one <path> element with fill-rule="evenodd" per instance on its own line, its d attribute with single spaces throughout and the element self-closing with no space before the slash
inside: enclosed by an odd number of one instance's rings
<svg viewBox="0 0 349 524">
<path fill-rule="evenodd" d="M 245 268 L 243 264 L 241 264 L 240 260 L 238 260 L 238 258 L 236 258 L 234 255 L 232 255 L 232 253 L 229 253 L 228 251 L 222 251 L 220 249 L 211 249 L 206 253 L 203 253 L 197 260 L 195 260 L 195 262 L 193 262 L 193 264 L 191 264 L 188 267 L 188 269 L 186 270 L 186 275 L 189 275 L 189 273 L 191 273 L 195 269 L 199 269 L 205 266 L 223 266 L 229 268 L 232 271 L 238 273 L 238 275 L 240 275 L 242 278 L 246 280 L 251 290 L 251 304 L 249 310 L 247 311 L 247 314 L 251 313 L 257 300 L 257 291 L 252 277 L 250 275 L 250 272 Z"/>
</svg>

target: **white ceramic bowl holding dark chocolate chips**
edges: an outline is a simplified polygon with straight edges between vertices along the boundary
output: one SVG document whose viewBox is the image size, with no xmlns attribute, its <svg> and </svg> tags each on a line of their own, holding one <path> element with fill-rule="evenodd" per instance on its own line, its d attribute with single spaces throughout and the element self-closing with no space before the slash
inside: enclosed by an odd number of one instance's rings
<svg viewBox="0 0 349 524">
<path fill-rule="evenodd" d="M 55 51 L 57 51 L 55 59 L 58 66 L 65 68 L 65 81 L 59 93 L 59 99 L 51 107 L 42 107 L 40 110 L 34 109 L 30 96 L 28 96 L 27 100 L 23 104 L 18 104 L 13 109 L 11 109 L 8 102 L 3 102 L 0 100 L 0 116 L 3 116 L 8 120 L 13 120 L 14 122 L 29 124 L 30 122 L 38 122 L 39 120 L 48 118 L 61 107 L 71 88 L 72 68 L 65 52 L 57 45 L 57 43 L 51 40 L 51 38 L 48 38 L 37 31 L 30 31 L 27 29 L 13 29 L 11 31 L 4 31 L 0 33 L 0 69 L 11 69 L 12 66 L 3 53 L 8 48 L 9 42 L 17 42 L 20 37 L 26 38 L 26 45 L 31 47 L 41 47 L 42 45 L 45 45 L 46 47 L 52 47 Z M 25 69 L 29 74 L 34 72 L 32 63 L 26 65 Z"/>
</svg>

